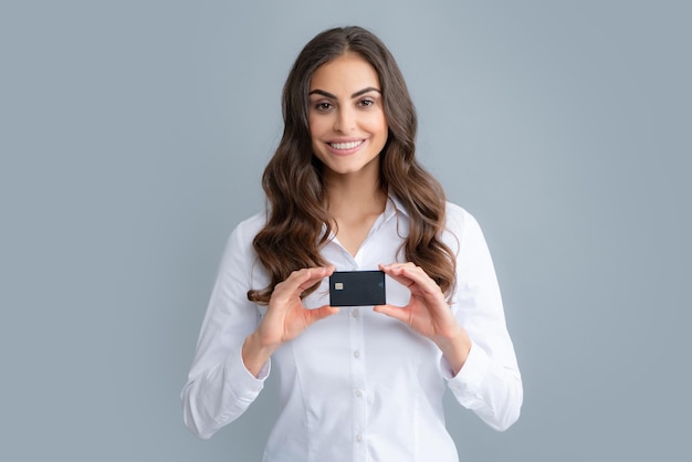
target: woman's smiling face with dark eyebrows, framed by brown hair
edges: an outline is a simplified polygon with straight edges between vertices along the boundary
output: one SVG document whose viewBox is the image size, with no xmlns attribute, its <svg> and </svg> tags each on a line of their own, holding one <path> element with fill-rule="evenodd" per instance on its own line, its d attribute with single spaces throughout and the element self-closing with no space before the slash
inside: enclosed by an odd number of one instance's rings
<svg viewBox="0 0 692 462">
<path fill-rule="evenodd" d="M 355 53 L 317 67 L 310 83 L 308 122 L 313 151 L 337 175 L 377 169 L 387 143 L 379 77 Z"/>
</svg>

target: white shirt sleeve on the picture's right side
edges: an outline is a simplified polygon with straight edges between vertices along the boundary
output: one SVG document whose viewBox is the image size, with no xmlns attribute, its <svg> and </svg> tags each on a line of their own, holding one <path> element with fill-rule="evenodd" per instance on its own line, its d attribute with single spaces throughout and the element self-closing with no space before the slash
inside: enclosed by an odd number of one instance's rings
<svg viewBox="0 0 692 462">
<path fill-rule="evenodd" d="M 514 346 L 506 328 L 495 270 L 478 221 L 455 213 L 459 253 L 452 309 L 471 338 L 469 357 L 457 376 L 442 358 L 441 372 L 455 399 L 495 430 L 517 419 L 523 386 Z"/>
</svg>

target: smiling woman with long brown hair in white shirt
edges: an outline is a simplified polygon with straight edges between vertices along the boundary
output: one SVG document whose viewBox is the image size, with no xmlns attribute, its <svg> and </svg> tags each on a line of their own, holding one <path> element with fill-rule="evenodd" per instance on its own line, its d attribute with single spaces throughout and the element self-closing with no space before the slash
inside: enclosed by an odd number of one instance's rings
<svg viewBox="0 0 692 462">
<path fill-rule="evenodd" d="M 268 211 L 223 253 L 181 393 L 186 424 L 210 438 L 274 368 L 282 410 L 264 461 L 457 461 L 445 387 L 497 430 L 523 397 L 479 224 L 416 160 L 413 105 L 370 32 L 307 43 L 283 116 Z M 386 305 L 328 305 L 335 270 L 378 269 Z"/>
</svg>

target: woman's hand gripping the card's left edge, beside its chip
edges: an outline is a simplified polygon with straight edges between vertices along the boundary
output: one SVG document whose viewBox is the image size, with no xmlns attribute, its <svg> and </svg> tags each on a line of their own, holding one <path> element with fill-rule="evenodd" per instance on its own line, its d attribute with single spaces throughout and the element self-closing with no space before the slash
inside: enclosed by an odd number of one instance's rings
<svg viewBox="0 0 692 462">
<path fill-rule="evenodd" d="M 243 363 L 255 377 L 284 342 L 297 337 L 315 322 L 338 313 L 338 308 L 329 305 L 307 309 L 301 300 L 304 291 L 333 272 L 334 266 L 303 269 L 276 284 L 264 317 L 242 348 Z"/>
</svg>

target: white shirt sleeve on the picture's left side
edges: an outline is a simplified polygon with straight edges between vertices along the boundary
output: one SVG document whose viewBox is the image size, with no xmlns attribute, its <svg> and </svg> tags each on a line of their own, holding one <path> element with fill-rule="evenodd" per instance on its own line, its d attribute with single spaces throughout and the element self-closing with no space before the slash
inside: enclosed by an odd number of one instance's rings
<svg viewBox="0 0 692 462">
<path fill-rule="evenodd" d="M 197 343 L 197 351 L 180 399 L 184 421 L 202 439 L 239 418 L 255 400 L 270 374 L 270 363 L 255 378 L 241 349 L 258 325 L 258 308 L 248 301 L 254 252 L 251 230 L 241 223 L 231 233 Z M 254 227 L 250 227 L 254 228 Z"/>
</svg>

